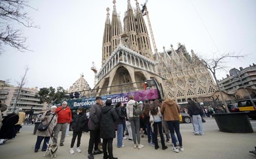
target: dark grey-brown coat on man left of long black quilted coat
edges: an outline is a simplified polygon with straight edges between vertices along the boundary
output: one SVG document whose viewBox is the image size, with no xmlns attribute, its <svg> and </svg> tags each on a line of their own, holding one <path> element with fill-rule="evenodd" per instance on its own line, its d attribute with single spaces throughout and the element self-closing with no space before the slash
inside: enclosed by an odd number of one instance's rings
<svg viewBox="0 0 256 159">
<path fill-rule="evenodd" d="M 90 130 L 98 130 L 101 122 L 101 106 L 93 104 L 90 109 Z"/>
</svg>

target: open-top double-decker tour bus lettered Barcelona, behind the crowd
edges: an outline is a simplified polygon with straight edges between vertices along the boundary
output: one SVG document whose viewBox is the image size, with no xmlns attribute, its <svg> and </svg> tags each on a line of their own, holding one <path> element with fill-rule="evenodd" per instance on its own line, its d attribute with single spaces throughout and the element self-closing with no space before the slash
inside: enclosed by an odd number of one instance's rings
<svg viewBox="0 0 256 159">
<path fill-rule="evenodd" d="M 72 112 L 76 113 L 76 109 L 79 107 L 84 107 L 85 110 L 90 109 L 96 102 L 96 96 L 101 96 L 104 103 L 106 99 L 112 99 L 112 104 L 118 102 L 126 104 L 129 101 L 130 95 L 133 95 L 134 100 L 136 101 L 163 99 L 164 96 L 162 85 L 158 84 L 155 79 L 150 79 L 134 83 L 95 88 L 76 93 L 72 92 L 69 93 L 68 98 L 66 95 L 67 99 L 65 101 Z"/>
</svg>

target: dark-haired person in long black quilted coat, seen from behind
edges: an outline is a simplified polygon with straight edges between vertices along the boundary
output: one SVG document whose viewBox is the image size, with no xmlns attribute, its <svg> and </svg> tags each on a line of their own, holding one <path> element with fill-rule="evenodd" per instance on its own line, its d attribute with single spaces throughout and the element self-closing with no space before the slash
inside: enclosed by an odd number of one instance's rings
<svg viewBox="0 0 256 159">
<path fill-rule="evenodd" d="M 115 122 L 118 120 L 116 110 L 111 106 L 112 100 L 106 100 L 106 105 L 101 108 L 100 136 L 103 139 L 103 158 L 117 159 L 113 157 L 113 138 L 116 138 Z M 108 151 L 106 151 L 108 147 Z"/>
</svg>

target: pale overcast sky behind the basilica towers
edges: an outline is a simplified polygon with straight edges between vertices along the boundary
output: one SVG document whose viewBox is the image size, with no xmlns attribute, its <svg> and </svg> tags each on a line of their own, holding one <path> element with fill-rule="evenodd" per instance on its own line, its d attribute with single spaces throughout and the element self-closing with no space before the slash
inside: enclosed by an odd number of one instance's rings
<svg viewBox="0 0 256 159">
<path fill-rule="evenodd" d="M 37 10 L 27 12 L 40 29 L 24 28 L 24 35 L 34 52 L 6 48 L 0 56 L 0 80 L 10 79 L 16 85 L 15 80 L 20 81 L 24 67 L 29 66 L 27 88 L 68 89 L 82 73 L 93 88 L 92 62 L 101 68 L 106 8 L 112 16 L 112 0 L 37 0 L 30 5 Z M 131 0 L 131 6 L 136 7 L 135 1 Z M 170 44 L 177 49 L 180 42 L 188 52 L 193 49 L 201 55 L 217 51 L 249 55 L 243 61 L 227 63 L 230 68 L 256 62 L 255 0 L 148 0 L 147 8 L 159 52 Z M 116 0 L 116 9 L 123 20 L 127 1 Z M 218 79 L 227 73 L 218 73 Z"/>
</svg>

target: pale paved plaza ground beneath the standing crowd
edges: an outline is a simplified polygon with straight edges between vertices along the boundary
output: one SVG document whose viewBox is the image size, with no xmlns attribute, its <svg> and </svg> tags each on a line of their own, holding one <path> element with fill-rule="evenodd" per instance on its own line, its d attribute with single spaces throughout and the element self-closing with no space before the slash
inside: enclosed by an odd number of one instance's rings
<svg viewBox="0 0 256 159">
<path fill-rule="evenodd" d="M 119 159 L 126 158 L 256 158 L 249 151 L 254 150 L 256 146 L 256 121 L 251 121 L 254 133 L 226 133 L 220 132 L 216 126 L 216 122 L 212 118 L 207 118 L 204 123 L 205 135 L 195 136 L 192 133 L 193 126 L 191 124 L 180 124 L 180 129 L 183 137 L 184 151 L 175 153 L 171 150 L 170 143 L 166 143 L 168 149 L 160 148 L 155 150 L 153 146 L 148 146 L 147 136 L 141 138 L 141 144 L 144 144 L 143 149 L 134 149 L 133 142 L 124 140 L 125 147 L 116 147 L 116 138 L 113 141 L 114 157 Z M 8 140 L 5 144 L 0 145 L 0 158 L 50 158 L 43 157 L 45 152 L 41 150 L 34 153 L 34 145 L 37 139 L 33 135 L 34 125 L 24 125 L 20 133 L 17 134 L 14 140 Z M 60 134 L 59 134 L 60 136 Z M 58 138 L 58 142 L 59 142 Z M 58 145 L 56 158 L 87 158 L 89 133 L 83 133 L 81 138 L 81 153 L 69 154 L 72 132 L 70 136 L 65 138 L 64 146 Z M 76 143 L 74 144 L 76 148 Z M 94 156 L 95 159 L 103 158 L 103 154 Z"/>
</svg>

